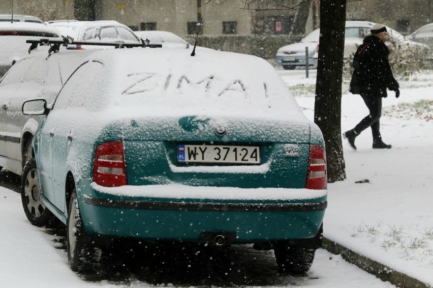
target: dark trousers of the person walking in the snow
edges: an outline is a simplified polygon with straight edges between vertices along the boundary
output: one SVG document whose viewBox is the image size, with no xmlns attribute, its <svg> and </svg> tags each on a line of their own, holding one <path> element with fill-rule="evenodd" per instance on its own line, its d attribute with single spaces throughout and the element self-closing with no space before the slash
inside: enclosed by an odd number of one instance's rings
<svg viewBox="0 0 433 288">
<path fill-rule="evenodd" d="M 361 97 L 365 105 L 367 105 L 370 114 L 362 119 L 353 130 L 359 135 L 363 130 L 372 127 L 373 141 L 379 141 L 381 140 L 380 117 L 382 115 L 382 96 L 361 94 Z"/>
</svg>

